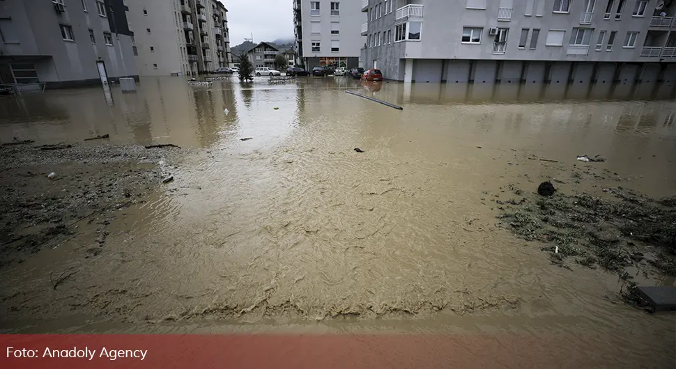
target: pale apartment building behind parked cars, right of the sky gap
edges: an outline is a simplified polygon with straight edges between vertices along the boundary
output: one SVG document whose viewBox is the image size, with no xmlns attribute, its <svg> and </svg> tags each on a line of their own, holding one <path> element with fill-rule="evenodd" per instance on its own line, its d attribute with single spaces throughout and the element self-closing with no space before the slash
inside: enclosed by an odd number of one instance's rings
<svg viewBox="0 0 676 369">
<path fill-rule="evenodd" d="M 366 15 L 359 1 L 293 0 L 293 33 L 298 63 L 357 67 Z"/>
</svg>

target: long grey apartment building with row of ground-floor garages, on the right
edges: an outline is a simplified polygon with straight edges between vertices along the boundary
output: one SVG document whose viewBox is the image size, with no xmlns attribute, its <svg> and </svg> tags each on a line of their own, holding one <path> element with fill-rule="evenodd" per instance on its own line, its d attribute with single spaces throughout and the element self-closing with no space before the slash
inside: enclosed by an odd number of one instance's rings
<svg viewBox="0 0 676 369">
<path fill-rule="evenodd" d="M 673 0 L 362 0 L 365 68 L 386 79 L 676 79 Z"/>
</svg>

